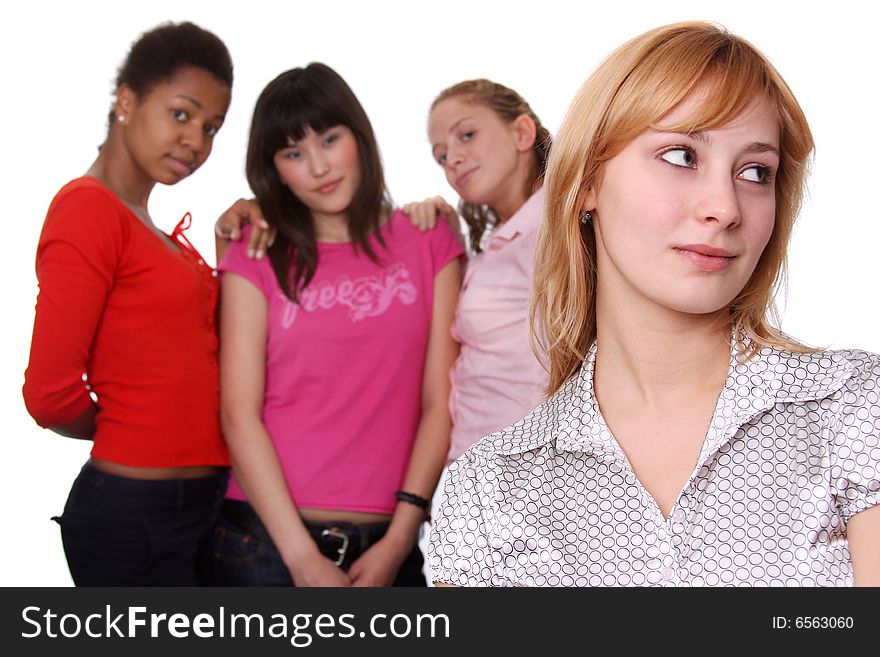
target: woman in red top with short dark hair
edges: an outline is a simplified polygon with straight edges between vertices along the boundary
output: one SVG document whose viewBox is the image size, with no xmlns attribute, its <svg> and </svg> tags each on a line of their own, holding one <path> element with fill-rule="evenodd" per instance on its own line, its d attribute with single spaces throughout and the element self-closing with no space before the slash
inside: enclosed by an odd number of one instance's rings
<svg viewBox="0 0 880 657">
<path fill-rule="evenodd" d="M 142 35 L 98 158 L 46 216 L 24 399 L 41 426 L 93 441 L 58 519 L 77 585 L 201 581 L 229 463 L 217 281 L 182 234 L 189 215 L 167 235 L 147 202 L 205 162 L 231 89 L 212 33 L 180 23 Z"/>
</svg>

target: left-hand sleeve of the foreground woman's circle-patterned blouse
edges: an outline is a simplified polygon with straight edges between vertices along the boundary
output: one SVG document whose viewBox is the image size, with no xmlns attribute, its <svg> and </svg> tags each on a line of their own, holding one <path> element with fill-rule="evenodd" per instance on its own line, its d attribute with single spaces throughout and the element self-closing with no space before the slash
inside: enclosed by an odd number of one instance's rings
<svg viewBox="0 0 880 657">
<path fill-rule="evenodd" d="M 432 519 L 428 565 L 431 580 L 455 586 L 499 586 L 487 522 L 492 488 L 485 459 L 465 453 L 449 466 L 443 498 Z"/>
</svg>

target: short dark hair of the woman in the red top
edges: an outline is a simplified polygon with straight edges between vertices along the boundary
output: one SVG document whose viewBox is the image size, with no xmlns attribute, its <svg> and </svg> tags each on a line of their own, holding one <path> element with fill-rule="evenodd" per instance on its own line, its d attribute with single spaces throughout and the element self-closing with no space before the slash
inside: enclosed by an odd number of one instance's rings
<svg viewBox="0 0 880 657">
<path fill-rule="evenodd" d="M 188 67 L 205 70 L 232 89 L 232 58 L 219 37 L 193 23 L 163 23 L 131 45 L 116 75 L 116 89 L 128 85 L 143 98 Z M 109 125 L 113 119 L 111 108 Z"/>
</svg>

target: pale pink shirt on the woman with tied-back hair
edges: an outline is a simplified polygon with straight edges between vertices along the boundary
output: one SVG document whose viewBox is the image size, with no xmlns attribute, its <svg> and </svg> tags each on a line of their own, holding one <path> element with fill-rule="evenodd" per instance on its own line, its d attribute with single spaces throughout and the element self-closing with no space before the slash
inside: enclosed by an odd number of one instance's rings
<svg viewBox="0 0 880 657">
<path fill-rule="evenodd" d="M 538 190 L 471 258 L 452 334 L 461 353 L 452 369 L 454 461 L 483 436 L 513 424 L 544 398 L 549 375 L 532 353 L 528 310 L 544 191 Z"/>
</svg>

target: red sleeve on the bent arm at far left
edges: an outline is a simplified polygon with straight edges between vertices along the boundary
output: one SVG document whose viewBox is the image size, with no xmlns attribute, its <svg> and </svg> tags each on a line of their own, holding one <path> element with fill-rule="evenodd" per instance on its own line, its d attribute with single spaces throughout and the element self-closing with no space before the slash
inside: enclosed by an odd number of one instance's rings
<svg viewBox="0 0 880 657">
<path fill-rule="evenodd" d="M 92 403 L 89 354 L 125 248 L 117 202 L 80 188 L 53 201 L 37 247 L 34 332 L 23 395 L 42 427 L 72 422 Z"/>
</svg>

